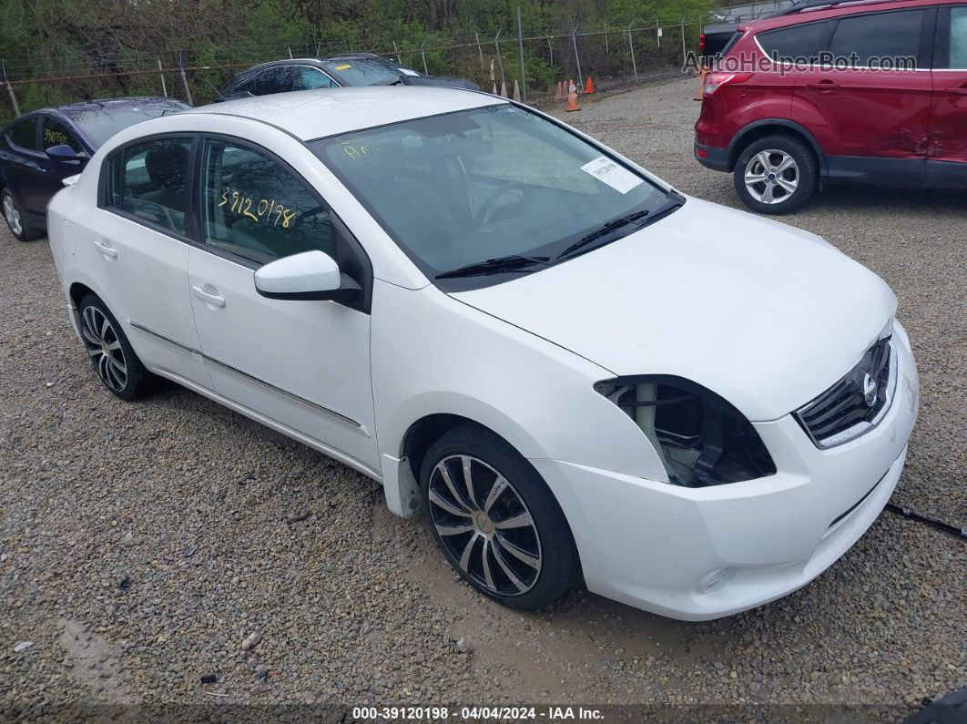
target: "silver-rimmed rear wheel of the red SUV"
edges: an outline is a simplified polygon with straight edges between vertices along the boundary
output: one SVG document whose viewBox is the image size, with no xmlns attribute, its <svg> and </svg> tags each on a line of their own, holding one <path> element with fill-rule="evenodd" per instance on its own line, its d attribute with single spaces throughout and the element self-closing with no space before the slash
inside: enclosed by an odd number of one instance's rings
<svg viewBox="0 0 967 724">
<path fill-rule="evenodd" d="M 752 177 L 761 177 L 761 181 L 749 184 Z M 732 180 L 739 197 L 752 211 L 789 214 L 802 208 L 815 192 L 819 171 L 812 149 L 804 141 L 769 135 L 743 149 Z"/>
</svg>

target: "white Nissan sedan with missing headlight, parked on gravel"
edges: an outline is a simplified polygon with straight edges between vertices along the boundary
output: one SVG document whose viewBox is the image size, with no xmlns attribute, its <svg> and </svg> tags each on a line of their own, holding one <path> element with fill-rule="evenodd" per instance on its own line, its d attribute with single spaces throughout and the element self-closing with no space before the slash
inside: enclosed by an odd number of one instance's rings
<svg viewBox="0 0 967 724">
<path fill-rule="evenodd" d="M 474 588 L 579 576 L 713 619 L 832 565 L 894 490 L 917 371 L 876 275 L 445 88 L 230 101 L 122 131 L 49 207 L 74 328 L 382 483 Z"/>
</svg>

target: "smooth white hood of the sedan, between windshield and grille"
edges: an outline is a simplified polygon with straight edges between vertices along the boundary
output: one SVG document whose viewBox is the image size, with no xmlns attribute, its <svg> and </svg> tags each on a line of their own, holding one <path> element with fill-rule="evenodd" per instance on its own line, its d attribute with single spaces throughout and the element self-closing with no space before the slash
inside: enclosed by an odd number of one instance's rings
<svg viewBox="0 0 967 724">
<path fill-rule="evenodd" d="M 749 420 L 831 387 L 896 307 L 821 238 L 695 198 L 617 242 L 452 296 L 615 375 L 688 378 Z"/>
</svg>

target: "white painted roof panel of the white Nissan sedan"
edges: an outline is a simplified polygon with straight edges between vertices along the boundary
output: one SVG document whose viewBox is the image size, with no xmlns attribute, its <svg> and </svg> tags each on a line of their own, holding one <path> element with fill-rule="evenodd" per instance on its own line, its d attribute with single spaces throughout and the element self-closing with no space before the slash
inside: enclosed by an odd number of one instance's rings
<svg viewBox="0 0 967 724">
<path fill-rule="evenodd" d="M 399 121 L 507 103 L 488 93 L 440 86 L 362 86 L 276 93 L 186 111 L 250 118 L 302 141 Z"/>
</svg>

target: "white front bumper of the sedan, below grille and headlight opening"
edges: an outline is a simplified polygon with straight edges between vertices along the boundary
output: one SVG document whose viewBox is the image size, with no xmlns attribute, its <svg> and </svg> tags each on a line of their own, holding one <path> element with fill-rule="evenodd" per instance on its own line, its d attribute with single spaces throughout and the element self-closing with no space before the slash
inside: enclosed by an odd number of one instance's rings
<svg viewBox="0 0 967 724">
<path fill-rule="evenodd" d="M 684 488 L 532 460 L 571 524 L 588 590 L 685 621 L 745 611 L 803 587 L 863 536 L 890 500 L 917 417 L 918 379 L 897 334 L 884 420 L 817 449 L 786 416 L 755 423 L 777 474 Z"/>
</svg>

